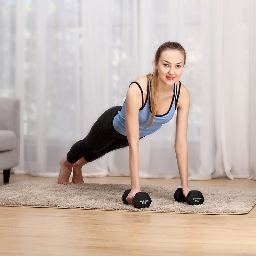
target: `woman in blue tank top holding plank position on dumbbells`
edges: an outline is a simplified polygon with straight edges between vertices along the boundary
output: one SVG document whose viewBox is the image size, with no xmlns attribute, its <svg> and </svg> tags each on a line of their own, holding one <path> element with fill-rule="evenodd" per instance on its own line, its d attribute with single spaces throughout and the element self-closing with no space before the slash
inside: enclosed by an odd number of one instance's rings
<svg viewBox="0 0 256 256">
<path fill-rule="evenodd" d="M 179 79 L 186 62 L 186 52 L 177 42 L 165 42 L 155 55 L 153 75 L 134 80 L 123 106 L 105 111 L 93 124 L 86 138 L 76 142 L 60 161 L 59 184 L 83 183 L 82 166 L 117 148 L 129 146 L 129 168 L 132 190 L 126 200 L 140 191 L 139 140 L 169 122 L 177 108 L 175 153 L 183 195 L 188 187 L 188 112 L 190 94 Z M 179 89 L 178 89 L 179 87 Z M 170 104 L 171 103 L 171 104 Z"/>
</svg>

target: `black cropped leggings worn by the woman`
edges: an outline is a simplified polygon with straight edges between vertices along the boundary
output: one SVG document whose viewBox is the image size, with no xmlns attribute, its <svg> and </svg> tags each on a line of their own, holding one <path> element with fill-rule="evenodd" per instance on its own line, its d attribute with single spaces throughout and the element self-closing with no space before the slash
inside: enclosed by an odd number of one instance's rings
<svg viewBox="0 0 256 256">
<path fill-rule="evenodd" d="M 82 157 L 87 162 L 92 162 L 112 150 L 129 146 L 127 137 L 117 132 L 113 126 L 113 119 L 121 108 L 122 106 L 109 108 L 98 118 L 88 135 L 70 148 L 67 154 L 69 163 L 74 164 Z"/>
</svg>

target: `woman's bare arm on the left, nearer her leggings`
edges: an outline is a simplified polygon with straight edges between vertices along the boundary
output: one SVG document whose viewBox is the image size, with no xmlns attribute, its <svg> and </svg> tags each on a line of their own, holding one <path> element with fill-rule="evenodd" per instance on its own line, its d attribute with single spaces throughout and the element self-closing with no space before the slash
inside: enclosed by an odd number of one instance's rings
<svg viewBox="0 0 256 256">
<path fill-rule="evenodd" d="M 129 142 L 129 168 L 131 175 L 132 190 L 126 200 L 132 204 L 132 199 L 140 191 L 139 183 L 139 109 L 141 108 L 141 92 L 136 84 L 131 84 L 126 94 L 125 127 Z"/>
</svg>

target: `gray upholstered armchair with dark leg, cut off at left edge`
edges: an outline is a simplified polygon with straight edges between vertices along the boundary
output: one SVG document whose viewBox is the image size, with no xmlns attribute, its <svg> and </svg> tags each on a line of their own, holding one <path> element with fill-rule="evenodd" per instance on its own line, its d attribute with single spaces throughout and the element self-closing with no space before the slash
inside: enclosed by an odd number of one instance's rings
<svg viewBox="0 0 256 256">
<path fill-rule="evenodd" d="M 4 183 L 20 163 L 20 99 L 0 98 L 0 170 Z"/>
</svg>

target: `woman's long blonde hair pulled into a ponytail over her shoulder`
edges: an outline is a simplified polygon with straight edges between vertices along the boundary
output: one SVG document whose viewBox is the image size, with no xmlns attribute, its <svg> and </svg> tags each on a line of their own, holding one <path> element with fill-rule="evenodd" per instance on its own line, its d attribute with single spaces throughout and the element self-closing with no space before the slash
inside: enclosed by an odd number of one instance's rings
<svg viewBox="0 0 256 256">
<path fill-rule="evenodd" d="M 155 55 L 155 64 L 158 64 L 158 61 L 160 59 L 160 56 L 162 54 L 163 51 L 165 50 L 178 50 L 181 53 L 183 53 L 184 55 L 184 65 L 186 63 L 186 51 L 184 50 L 184 48 L 181 46 L 181 44 L 177 43 L 177 42 L 165 42 L 164 44 L 161 44 L 157 51 L 156 51 L 156 55 Z M 184 67 L 183 65 L 183 67 Z M 154 116 L 156 115 L 156 105 L 157 105 L 157 96 L 158 96 L 158 69 L 154 69 L 154 73 L 151 74 L 149 73 L 147 75 L 147 77 L 149 78 L 150 82 L 151 82 L 151 87 L 150 87 L 150 108 L 152 111 L 151 114 L 151 118 L 150 118 L 150 122 L 148 124 L 148 127 L 150 127 L 150 125 L 153 123 L 154 120 Z"/>
</svg>

